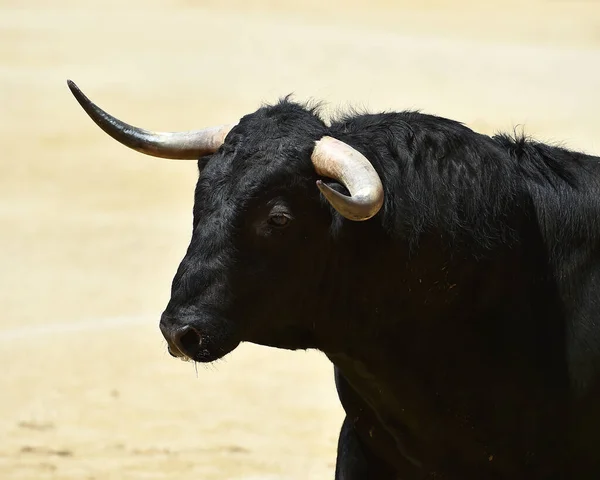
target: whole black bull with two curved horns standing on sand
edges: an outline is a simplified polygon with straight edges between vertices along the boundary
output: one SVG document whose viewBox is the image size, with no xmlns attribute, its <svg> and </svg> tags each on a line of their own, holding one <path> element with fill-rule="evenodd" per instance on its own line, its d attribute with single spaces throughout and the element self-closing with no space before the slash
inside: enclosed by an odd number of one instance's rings
<svg viewBox="0 0 600 480">
<path fill-rule="evenodd" d="M 121 143 L 199 159 L 171 354 L 323 351 L 336 478 L 600 479 L 600 158 L 289 99 L 155 133 L 69 85 Z"/>
</svg>

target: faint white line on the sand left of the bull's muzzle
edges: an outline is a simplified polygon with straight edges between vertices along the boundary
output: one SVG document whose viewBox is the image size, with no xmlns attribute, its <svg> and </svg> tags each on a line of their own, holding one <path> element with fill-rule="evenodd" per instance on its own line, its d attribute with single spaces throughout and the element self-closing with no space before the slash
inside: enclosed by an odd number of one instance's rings
<svg viewBox="0 0 600 480">
<path fill-rule="evenodd" d="M 77 333 L 90 330 L 105 330 L 109 328 L 136 325 L 139 323 L 152 323 L 158 328 L 160 314 L 144 314 L 122 317 L 96 318 L 73 321 L 71 323 L 50 323 L 45 325 L 30 325 L 8 330 L 0 330 L 0 343 L 11 340 L 31 338 L 32 336 L 49 335 L 57 333 Z"/>
</svg>

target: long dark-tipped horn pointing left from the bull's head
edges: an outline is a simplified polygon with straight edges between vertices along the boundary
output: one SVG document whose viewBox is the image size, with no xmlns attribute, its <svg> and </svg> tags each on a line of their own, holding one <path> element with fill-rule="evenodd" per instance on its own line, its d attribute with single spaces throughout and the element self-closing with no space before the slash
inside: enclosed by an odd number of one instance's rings
<svg viewBox="0 0 600 480">
<path fill-rule="evenodd" d="M 67 84 L 96 125 L 119 143 L 146 155 L 177 160 L 197 160 L 203 155 L 216 152 L 234 126 L 220 125 L 187 132 L 151 132 L 109 115 L 87 98 L 74 82 L 67 80 Z"/>
</svg>

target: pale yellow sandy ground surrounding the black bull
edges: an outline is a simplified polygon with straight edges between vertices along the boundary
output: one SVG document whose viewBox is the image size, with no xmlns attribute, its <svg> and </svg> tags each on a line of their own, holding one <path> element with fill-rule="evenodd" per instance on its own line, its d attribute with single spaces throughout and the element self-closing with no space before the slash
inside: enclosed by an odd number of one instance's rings
<svg viewBox="0 0 600 480">
<path fill-rule="evenodd" d="M 368 3 L 368 7 L 367 7 Z M 482 6 L 481 4 L 484 4 Z M 196 167 L 84 115 L 177 130 L 294 92 L 600 154 L 600 2 L 0 0 L 0 478 L 327 479 L 316 352 L 166 352 Z"/>
</svg>

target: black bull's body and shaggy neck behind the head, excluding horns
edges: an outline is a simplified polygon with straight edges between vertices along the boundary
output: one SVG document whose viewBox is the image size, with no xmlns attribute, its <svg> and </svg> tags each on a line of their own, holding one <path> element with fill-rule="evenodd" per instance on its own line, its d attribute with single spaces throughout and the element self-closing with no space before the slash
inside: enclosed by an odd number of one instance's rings
<svg viewBox="0 0 600 480">
<path fill-rule="evenodd" d="M 391 215 L 360 225 L 339 275 L 361 281 L 330 299 L 351 326 L 326 351 L 340 452 L 372 469 L 339 478 L 600 478 L 600 158 L 414 114 L 352 123 L 329 134 L 388 172 Z"/>
</svg>

